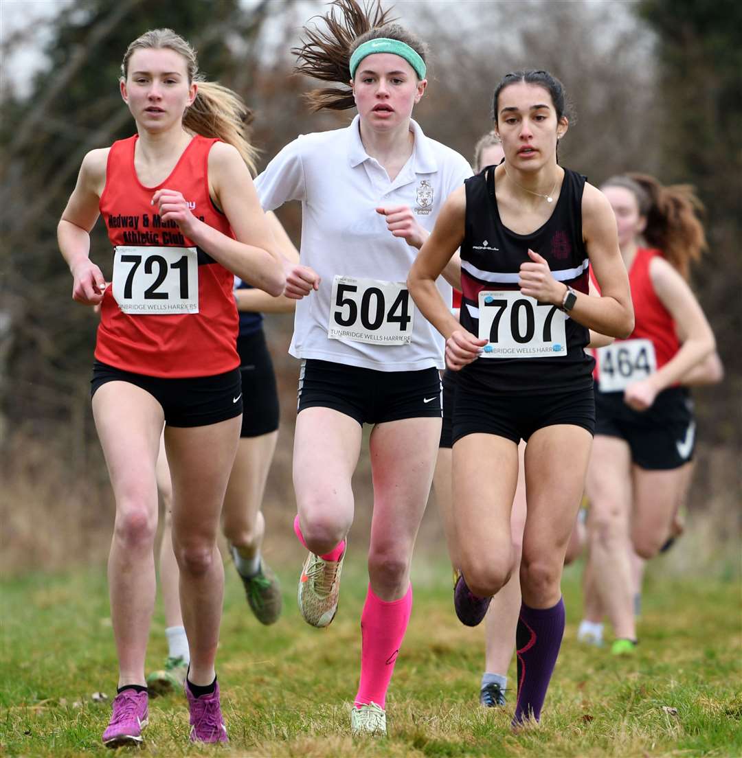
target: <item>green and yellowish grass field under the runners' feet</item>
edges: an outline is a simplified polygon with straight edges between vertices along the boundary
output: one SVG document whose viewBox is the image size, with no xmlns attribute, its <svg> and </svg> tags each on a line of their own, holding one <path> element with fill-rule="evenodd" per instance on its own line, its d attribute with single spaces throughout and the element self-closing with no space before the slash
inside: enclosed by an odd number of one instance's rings
<svg viewBox="0 0 742 758">
<path fill-rule="evenodd" d="M 676 549 L 678 550 L 678 549 Z M 285 612 L 270 628 L 250 615 L 231 565 L 218 671 L 231 743 L 191 747 L 180 695 L 150 701 L 146 747 L 180 756 L 740 756 L 740 584 L 728 576 L 665 578 L 644 598 L 633 659 L 577 644 L 580 568 L 564 578 L 568 628 L 542 724 L 515 735 L 504 711 L 477 703 L 483 631 L 461 626 L 444 559 L 413 572 L 412 622 L 387 701 L 387 738 L 351 738 L 349 701 L 360 656 L 366 576 L 344 572 L 341 606 L 326 630 L 308 627 L 294 597 L 297 565 L 280 571 Z M 105 569 L 27 575 L 2 585 L 0 753 L 108 754 L 100 735 L 115 694 Z M 162 663 L 161 612 L 148 663 Z M 514 669 L 511 668 L 511 680 Z M 96 702 L 93 693 L 108 701 Z"/>
</svg>

